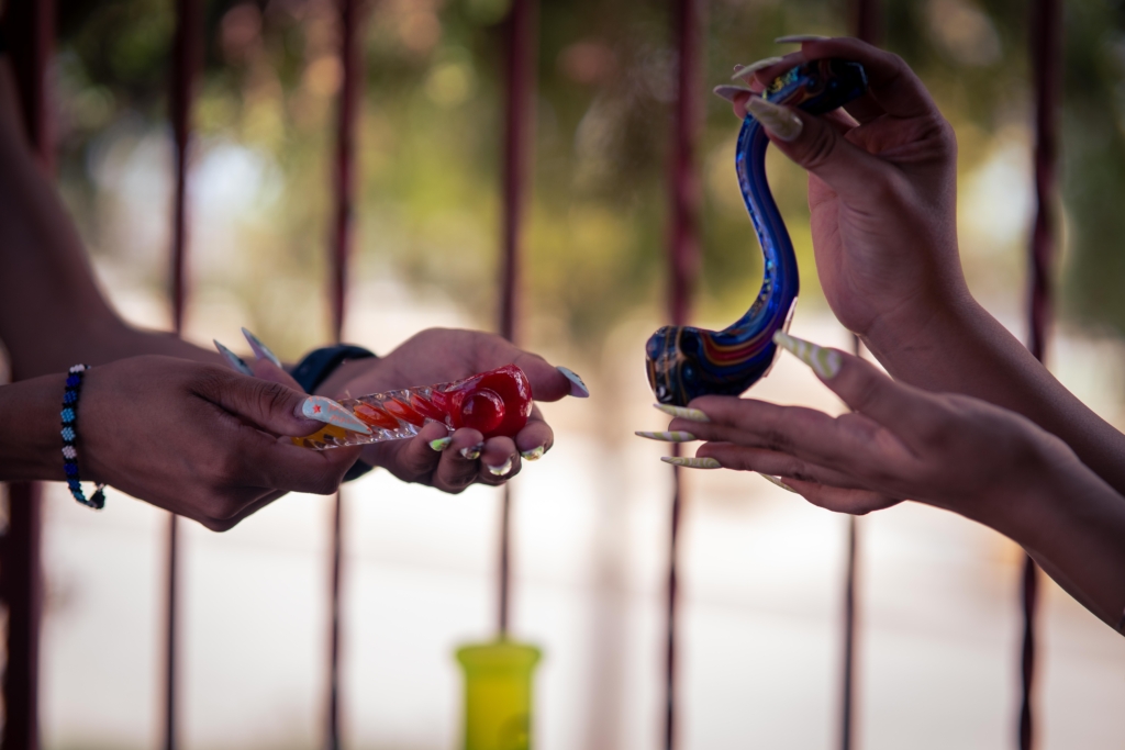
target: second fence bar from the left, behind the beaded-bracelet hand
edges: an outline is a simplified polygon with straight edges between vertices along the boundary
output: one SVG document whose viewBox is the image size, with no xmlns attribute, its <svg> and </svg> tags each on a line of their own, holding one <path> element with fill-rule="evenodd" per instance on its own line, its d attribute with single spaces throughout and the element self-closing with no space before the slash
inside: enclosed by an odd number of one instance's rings
<svg viewBox="0 0 1125 750">
<path fill-rule="evenodd" d="M 174 147 L 174 187 L 172 191 L 171 298 L 172 327 L 183 333 L 187 304 L 188 255 L 188 160 L 191 147 L 191 106 L 196 80 L 202 63 L 202 7 L 200 0 L 177 0 L 176 39 L 172 47 L 170 117 Z M 168 517 L 166 581 L 164 591 L 164 737 L 165 750 L 177 746 L 177 686 L 179 670 L 179 519 Z"/>
</svg>

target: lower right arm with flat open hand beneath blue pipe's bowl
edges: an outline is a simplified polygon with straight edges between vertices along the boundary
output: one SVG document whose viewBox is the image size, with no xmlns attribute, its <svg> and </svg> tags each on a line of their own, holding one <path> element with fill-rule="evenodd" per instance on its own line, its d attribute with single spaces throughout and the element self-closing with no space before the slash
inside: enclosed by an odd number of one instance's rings
<svg viewBox="0 0 1125 750">
<path fill-rule="evenodd" d="M 789 336 L 778 343 L 855 413 L 830 417 L 750 399 L 699 398 L 694 421 L 669 425 L 711 441 L 698 457 L 781 476 L 809 501 L 843 513 L 911 498 L 961 514 L 1023 545 L 1060 586 L 1118 627 L 1125 498 L 1061 440 L 991 404 L 896 382 L 844 352 Z"/>
</svg>

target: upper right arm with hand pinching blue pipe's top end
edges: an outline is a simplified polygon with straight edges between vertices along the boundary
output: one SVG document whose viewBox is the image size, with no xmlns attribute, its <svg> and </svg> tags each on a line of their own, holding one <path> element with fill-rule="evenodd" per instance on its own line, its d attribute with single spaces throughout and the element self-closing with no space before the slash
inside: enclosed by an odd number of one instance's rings
<svg viewBox="0 0 1125 750">
<path fill-rule="evenodd" d="M 804 43 L 804 60 L 864 64 L 867 96 L 817 118 L 780 108 L 773 144 L 809 170 L 817 272 L 832 311 L 897 379 L 1022 414 L 1125 494 L 1125 435 L 1068 391 L 970 295 L 957 254 L 956 142 L 899 57 L 855 39 Z M 745 116 L 742 94 L 736 111 Z M 781 135 L 785 137 L 782 138 Z"/>
</svg>

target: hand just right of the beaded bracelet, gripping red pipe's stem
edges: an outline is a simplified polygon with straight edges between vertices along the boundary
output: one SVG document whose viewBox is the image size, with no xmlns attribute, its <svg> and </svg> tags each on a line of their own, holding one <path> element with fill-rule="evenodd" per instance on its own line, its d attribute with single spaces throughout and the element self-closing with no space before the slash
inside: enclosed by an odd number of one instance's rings
<svg viewBox="0 0 1125 750">
<path fill-rule="evenodd" d="M 288 491 L 334 491 L 356 461 L 357 449 L 289 442 L 323 426 L 299 416 L 304 400 L 274 382 L 166 356 L 97 367 L 82 385 L 81 476 L 225 531 Z"/>
</svg>

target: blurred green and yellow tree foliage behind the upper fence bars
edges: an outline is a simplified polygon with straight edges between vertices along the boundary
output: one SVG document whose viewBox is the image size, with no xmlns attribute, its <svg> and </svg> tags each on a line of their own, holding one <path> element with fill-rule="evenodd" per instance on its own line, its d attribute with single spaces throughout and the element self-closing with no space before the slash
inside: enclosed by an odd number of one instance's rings
<svg viewBox="0 0 1125 750">
<path fill-rule="evenodd" d="M 390 274 L 440 290 L 482 326 L 494 317 L 507 0 L 372 0 L 363 36 L 358 280 Z M 61 0 L 63 182 L 96 252 L 94 155 L 106 133 L 165 126 L 173 30 L 170 0 Z M 713 0 L 706 82 L 736 62 L 775 54 L 775 36 L 844 34 L 843 0 Z M 1068 310 L 1125 331 L 1125 10 L 1068 0 L 1064 202 Z M 1005 127 L 1030 121 L 1028 3 L 888 0 L 886 46 L 922 75 L 957 127 L 961 169 L 984 160 Z M 668 3 L 542 0 L 534 198 L 525 311 L 532 338 L 590 351 L 634 310 L 663 311 L 666 142 L 676 55 Z M 210 0 L 201 148 L 235 143 L 277 166 L 279 197 L 246 235 L 241 273 L 209 277 L 245 300 L 260 333 L 290 353 L 316 332 L 296 320 L 320 305 L 330 197 L 327 154 L 340 83 L 331 0 Z M 732 170 L 738 124 L 708 97 L 700 315 L 734 318 L 760 280 L 760 260 Z M 137 124 L 141 124 L 140 126 Z M 101 146 L 99 146 L 101 144 Z M 772 182 L 819 304 L 804 175 L 776 155 Z M 1028 183 L 1026 190 L 1030 190 Z M 1022 241 L 1020 241 L 1022 244 Z M 164 247 L 151 252 L 163 256 Z M 1018 254 L 1005 283 L 1024 284 Z M 160 269 L 162 266 L 155 265 Z M 269 269 L 285 293 L 270 292 Z M 163 283 L 160 273 L 148 279 Z M 297 301 L 297 300 L 300 301 Z M 294 334 L 294 331 L 300 333 Z"/>
</svg>

